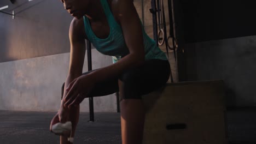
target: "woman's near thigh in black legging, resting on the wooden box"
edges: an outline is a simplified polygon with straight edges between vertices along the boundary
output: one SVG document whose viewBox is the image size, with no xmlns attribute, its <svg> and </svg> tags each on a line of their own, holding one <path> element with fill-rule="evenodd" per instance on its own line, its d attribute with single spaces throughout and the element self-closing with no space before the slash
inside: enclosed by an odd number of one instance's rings
<svg viewBox="0 0 256 144">
<path fill-rule="evenodd" d="M 141 95 L 164 86 L 170 76 L 170 64 L 161 59 L 150 59 L 141 67 L 127 70 L 122 81 L 121 99 L 141 99 Z"/>
</svg>

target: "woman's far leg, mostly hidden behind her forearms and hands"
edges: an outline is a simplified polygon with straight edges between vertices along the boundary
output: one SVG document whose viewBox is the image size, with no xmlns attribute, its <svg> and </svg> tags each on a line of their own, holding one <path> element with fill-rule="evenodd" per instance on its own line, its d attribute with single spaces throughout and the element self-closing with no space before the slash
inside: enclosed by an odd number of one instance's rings
<svg viewBox="0 0 256 144">
<path fill-rule="evenodd" d="M 88 71 L 86 73 L 83 73 L 83 75 L 86 75 L 88 73 L 90 73 L 91 71 Z M 62 97 L 63 97 L 63 91 L 65 88 L 65 83 L 63 83 L 62 85 Z M 101 83 L 97 83 L 96 86 L 92 89 L 92 91 L 89 94 L 89 97 L 100 97 L 100 96 L 104 96 L 104 95 L 109 95 L 109 94 L 113 94 L 115 92 L 118 92 L 118 78 L 117 79 L 111 79 L 111 80 L 107 80 Z M 62 99 L 61 97 L 61 99 Z M 68 119 L 66 119 L 66 121 L 71 121 L 72 122 L 72 133 L 71 133 L 71 137 L 74 137 L 75 134 L 75 129 L 77 127 L 77 123 L 79 121 L 79 105 L 77 107 L 72 107 L 71 109 L 69 109 L 69 117 Z M 68 134 L 69 135 L 69 134 Z M 70 144 L 70 142 L 68 142 L 67 137 L 66 136 L 60 136 L 60 143 L 61 144 Z"/>
</svg>

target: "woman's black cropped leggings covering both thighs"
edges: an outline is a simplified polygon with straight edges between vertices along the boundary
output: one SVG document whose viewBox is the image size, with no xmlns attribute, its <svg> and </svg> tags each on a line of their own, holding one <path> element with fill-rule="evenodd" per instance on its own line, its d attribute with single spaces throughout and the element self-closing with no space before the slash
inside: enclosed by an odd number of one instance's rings
<svg viewBox="0 0 256 144">
<path fill-rule="evenodd" d="M 84 74 L 88 73 L 91 73 L 91 71 Z M 126 70 L 115 79 L 96 83 L 96 86 L 92 89 L 89 97 L 98 97 L 119 92 L 119 79 L 123 83 L 123 95 L 121 96 L 121 99 L 141 99 L 141 95 L 148 94 L 164 86 L 169 77 L 170 63 L 168 61 L 150 59 L 141 67 Z"/>
</svg>

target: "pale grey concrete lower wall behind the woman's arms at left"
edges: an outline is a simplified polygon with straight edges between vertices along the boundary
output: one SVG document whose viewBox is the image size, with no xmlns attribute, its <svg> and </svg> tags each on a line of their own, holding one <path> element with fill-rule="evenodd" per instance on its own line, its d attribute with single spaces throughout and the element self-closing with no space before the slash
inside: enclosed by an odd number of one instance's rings
<svg viewBox="0 0 256 144">
<path fill-rule="evenodd" d="M 92 69 L 106 67 L 112 57 L 92 50 Z M 0 63 L 0 110 L 57 111 L 61 101 L 61 86 L 65 82 L 69 53 Z M 88 71 L 87 60 L 83 71 Z M 114 94 L 94 98 L 95 112 L 117 112 Z M 89 112 L 86 98 L 82 112 Z"/>
</svg>

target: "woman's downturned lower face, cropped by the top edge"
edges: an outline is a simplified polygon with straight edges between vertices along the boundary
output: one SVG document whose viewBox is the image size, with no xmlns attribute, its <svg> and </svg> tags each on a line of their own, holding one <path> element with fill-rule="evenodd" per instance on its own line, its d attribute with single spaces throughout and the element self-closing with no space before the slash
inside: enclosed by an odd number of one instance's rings
<svg viewBox="0 0 256 144">
<path fill-rule="evenodd" d="M 69 14 L 80 19 L 85 15 L 89 0 L 61 0 Z"/>
</svg>

